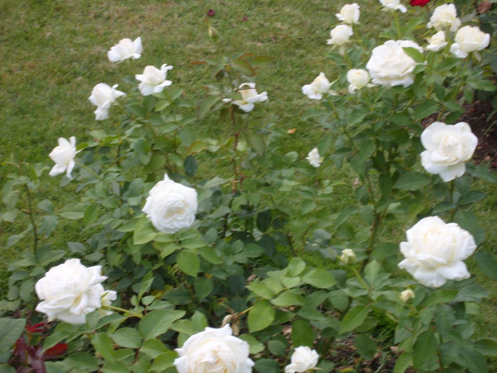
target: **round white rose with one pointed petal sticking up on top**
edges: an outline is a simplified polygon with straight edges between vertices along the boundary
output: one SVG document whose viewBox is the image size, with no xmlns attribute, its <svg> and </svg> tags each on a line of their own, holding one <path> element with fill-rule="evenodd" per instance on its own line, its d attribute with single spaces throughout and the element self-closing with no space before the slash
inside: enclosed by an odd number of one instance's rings
<svg viewBox="0 0 497 373">
<path fill-rule="evenodd" d="M 175 233 L 193 224 L 197 207 L 195 189 L 175 183 L 164 175 L 164 180 L 150 189 L 142 211 L 158 231 Z"/>
</svg>

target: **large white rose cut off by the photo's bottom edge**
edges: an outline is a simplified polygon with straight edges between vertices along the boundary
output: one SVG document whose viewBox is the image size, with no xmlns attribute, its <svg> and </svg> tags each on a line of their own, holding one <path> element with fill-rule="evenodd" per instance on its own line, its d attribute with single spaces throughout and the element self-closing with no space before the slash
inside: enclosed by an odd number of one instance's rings
<svg viewBox="0 0 497 373">
<path fill-rule="evenodd" d="M 205 328 L 175 351 L 178 373 L 251 373 L 254 365 L 248 358 L 248 343 L 232 335 L 230 325 Z"/>
</svg>

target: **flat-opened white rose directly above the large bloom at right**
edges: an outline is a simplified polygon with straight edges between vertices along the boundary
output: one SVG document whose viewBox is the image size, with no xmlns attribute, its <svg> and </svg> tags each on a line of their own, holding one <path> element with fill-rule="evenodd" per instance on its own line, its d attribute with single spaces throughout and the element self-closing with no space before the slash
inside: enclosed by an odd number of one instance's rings
<svg viewBox="0 0 497 373">
<path fill-rule="evenodd" d="M 434 122 L 421 133 L 421 164 L 430 174 L 439 174 L 444 182 L 463 176 L 466 164 L 478 145 L 478 138 L 468 123 Z"/>
</svg>

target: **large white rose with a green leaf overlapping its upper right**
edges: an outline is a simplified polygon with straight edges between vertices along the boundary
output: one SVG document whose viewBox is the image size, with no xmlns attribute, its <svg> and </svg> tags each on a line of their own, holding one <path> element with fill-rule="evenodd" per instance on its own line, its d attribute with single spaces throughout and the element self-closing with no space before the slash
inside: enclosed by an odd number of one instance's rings
<svg viewBox="0 0 497 373">
<path fill-rule="evenodd" d="M 388 40 L 383 45 L 373 49 L 371 58 L 366 64 L 374 84 L 386 87 L 409 87 L 414 83 L 414 67 L 417 65 L 413 58 L 404 52 L 404 47 L 423 49 L 411 40 Z"/>
</svg>

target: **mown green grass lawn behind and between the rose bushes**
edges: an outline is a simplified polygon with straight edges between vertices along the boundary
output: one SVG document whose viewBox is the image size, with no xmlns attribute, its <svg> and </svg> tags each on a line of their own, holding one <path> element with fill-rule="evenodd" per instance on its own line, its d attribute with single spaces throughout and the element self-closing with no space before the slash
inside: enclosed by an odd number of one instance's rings
<svg viewBox="0 0 497 373">
<path fill-rule="evenodd" d="M 93 129 L 114 131 L 112 117 L 103 122 L 94 120 L 94 108 L 87 100 L 91 89 L 102 82 L 122 83 L 122 78 L 141 73 L 146 65 L 173 65 L 168 79 L 184 87 L 189 96 L 199 98 L 202 86 L 211 82 L 210 72 L 204 66 L 191 66 L 190 62 L 215 52 L 203 20 L 209 8 L 215 10 L 210 20 L 220 32 L 227 53 L 252 52 L 275 57 L 273 66 L 257 78 L 259 92 L 269 94 L 269 101 L 257 106 L 257 114 L 275 126 L 295 128 L 295 134 L 282 148 L 295 150 L 304 158 L 316 146 L 323 130 L 300 119 L 306 108 L 318 105 L 301 93 L 301 87 L 321 71 L 330 81 L 338 77 L 333 62 L 326 57 L 326 40 L 336 24 L 334 14 L 341 3 L 345 1 L 1 0 L 0 161 L 13 153 L 19 160 L 50 164 L 48 153 L 58 137 L 76 136 L 83 141 Z M 356 32 L 368 30 L 378 34 L 383 25 L 388 25 L 386 13 L 377 9 L 376 0 L 361 2 L 362 25 L 355 28 Z M 112 45 L 124 37 L 138 36 L 144 45 L 141 59 L 123 64 L 107 60 L 106 51 Z M 208 136 L 222 133 L 226 125 L 213 117 L 194 124 Z M 219 167 L 215 159 L 206 160 L 199 173 L 218 172 L 212 171 L 213 166 Z M 0 186 L 8 172 L 6 167 L 0 170 Z M 327 174 L 332 180 L 343 181 L 343 187 L 335 189 L 340 203 L 333 208 L 338 211 L 353 198 L 348 186 L 354 180 L 343 170 L 330 168 Z M 46 174 L 45 178 L 48 179 Z M 80 198 L 72 187 L 59 189 L 59 180 L 49 183 L 52 187 L 42 192 L 59 206 Z M 495 253 L 497 189 L 485 183 L 479 188 L 490 195 L 474 208 L 487 230 L 487 240 L 479 250 Z M 391 226 L 387 231 L 400 240 L 411 223 Z M 18 230 L 17 225 L 0 225 L 0 279 L 4 285 L 8 263 L 19 251 L 28 249 L 28 240 L 4 248 L 8 235 Z M 54 246 L 63 245 L 79 234 L 74 224 L 65 223 L 50 240 Z M 470 270 L 480 274 L 472 262 Z M 490 290 L 491 299 L 477 319 L 478 334 L 496 336 L 497 283 L 483 277 L 481 282 Z"/>
</svg>

